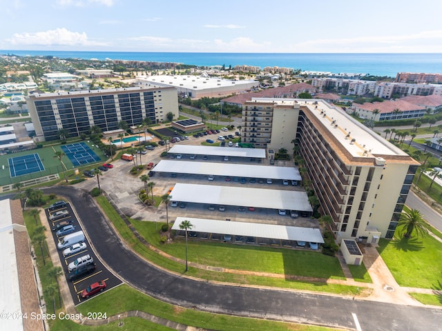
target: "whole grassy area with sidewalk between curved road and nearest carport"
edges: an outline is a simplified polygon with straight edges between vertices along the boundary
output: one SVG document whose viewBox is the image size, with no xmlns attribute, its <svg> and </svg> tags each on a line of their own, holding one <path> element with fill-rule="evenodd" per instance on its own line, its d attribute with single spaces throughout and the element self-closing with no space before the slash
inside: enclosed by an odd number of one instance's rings
<svg viewBox="0 0 442 331">
<path fill-rule="evenodd" d="M 128 245 L 146 260 L 166 270 L 182 273 L 184 270 L 184 241 L 175 239 L 171 244 L 162 244 L 162 223 L 130 220 L 149 244 L 142 243 L 128 225 L 119 217 L 105 197 L 98 203 Z M 180 261 L 175 261 L 180 259 Z M 265 285 L 278 288 L 328 292 L 352 296 L 359 287 L 361 296 L 368 296 L 367 285 L 345 285 L 343 270 L 338 259 L 308 250 L 286 250 L 260 246 L 230 245 L 225 243 L 189 242 L 189 271 L 191 277 L 211 281 L 224 281 L 248 285 Z M 222 262 L 220 262 L 222 261 Z M 225 268 L 225 272 L 209 270 L 207 266 Z M 365 270 L 362 265 L 361 268 Z M 358 272 L 365 274 L 366 270 Z M 366 277 L 362 277 L 362 279 Z M 336 280 L 330 281 L 329 280 Z M 367 281 L 367 280 L 365 280 Z"/>
</svg>

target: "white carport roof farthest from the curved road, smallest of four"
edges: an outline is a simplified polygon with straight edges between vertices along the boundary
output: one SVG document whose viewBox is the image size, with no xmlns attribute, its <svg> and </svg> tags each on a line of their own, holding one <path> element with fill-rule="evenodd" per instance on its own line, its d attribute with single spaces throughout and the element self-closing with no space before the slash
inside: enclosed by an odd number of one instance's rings
<svg viewBox="0 0 442 331">
<path fill-rule="evenodd" d="M 169 150 L 169 153 L 213 155 L 218 157 L 254 157 L 255 159 L 266 158 L 265 149 L 263 148 L 236 148 L 228 146 L 175 145 Z"/>
</svg>

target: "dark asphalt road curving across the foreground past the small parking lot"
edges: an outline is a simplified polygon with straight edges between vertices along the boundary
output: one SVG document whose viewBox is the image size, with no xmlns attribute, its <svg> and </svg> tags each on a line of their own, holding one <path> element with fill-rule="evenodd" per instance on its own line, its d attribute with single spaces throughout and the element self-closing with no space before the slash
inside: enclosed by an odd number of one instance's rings
<svg viewBox="0 0 442 331">
<path fill-rule="evenodd" d="M 61 186 L 44 191 L 70 199 L 97 254 L 106 264 L 124 281 L 162 301 L 209 312 L 340 328 L 356 329 L 359 323 L 361 330 L 439 330 L 442 323 L 442 310 L 434 308 L 220 285 L 170 274 L 155 268 L 126 248 L 88 193 Z"/>
</svg>

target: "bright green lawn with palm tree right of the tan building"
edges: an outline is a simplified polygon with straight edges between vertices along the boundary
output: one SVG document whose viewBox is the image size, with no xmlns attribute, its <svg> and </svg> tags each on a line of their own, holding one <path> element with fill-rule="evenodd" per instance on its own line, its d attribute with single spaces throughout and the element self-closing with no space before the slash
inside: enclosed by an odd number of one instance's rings
<svg viewBox="0 0 442 331">
<path fill-rule="evenodd" d="M 442 243 L 433 237 L 406 239 L 396 230 L 394 240 L 381 239 L 378 251 L 399 285 L 441 289 Z"/>
</svg>

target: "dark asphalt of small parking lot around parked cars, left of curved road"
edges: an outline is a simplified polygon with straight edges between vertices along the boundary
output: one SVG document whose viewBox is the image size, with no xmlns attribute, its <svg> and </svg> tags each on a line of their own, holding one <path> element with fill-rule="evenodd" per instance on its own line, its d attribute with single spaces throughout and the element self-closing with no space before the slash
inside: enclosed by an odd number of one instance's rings
<svg viewBox="0 0 442 331">
<path fill-rule="evenodd" d="M 56 220 L 51 221 L 50 216 L 52 214 L 57 214 L 60 211 L 66 210 L 68 214 L 65 214 L 63 217 L 57 218 Z M 66 235 L 62 235 L 60 237 L 57 237 L 57 230 L 64 228 L 64 226 L 72 225 L 73 226 L 73 232 L 77 232 L 82 230 L 81 224 L 78 221 L 77 217 L 75 216 L 75 211 L 70 206 L 70 203 L 66 203 L 64 207 L 56 208 L 54 210 L 49 211 L 48 208 L 45 210 L 46 217 L 48 219 L 49 227 L 52 230 L 52 238 L 54 239 L 55 245 L 57 246 L 57 243 L 61 241 Z M 59 213 L 61 214 L 61 213 Z M 66 225 L 64 225 L 66 224 Z M 64 225 L 59 226 L 57 228 L 57 225 Z M 122 283 L 120 279 L 115 277 L 112 272 L 106 269 L 106 267 L 102 264 L 101 261 L 99 261 L 99 258 L 93 251 L 93 249 L 90 246 L 90 243 L 88 242 L 88 239 L 84 240 L 84 243 L 86 244 L 86 247 L 84 249 L 81 249 L 79 252 L 75 252 L 74 254 L 70 254 L 69 256 L 64 255 L 64 249 L 58 250 L 58 256 L 61 261 L 61 267 L 64 270 L 64 280 L 66 280 L 66 283 L 68 284 L 68 288 L 70 291 L 70 294 L 73 298 L 73 302 L 75 305 L 80 303 L 81 301 L 84 301 L 86 299 L 81 298 L 81 291 L 87 288 L 89 285 L 98 282 L 98 281 L 105 281 L 106 288 L 105 290 L 108 290 L 109 288 L 113 288 L 116 285 L 119 285 Z M 81 274 L 72 281 L 70 280 L 70 273 L 68 272 L 68 265 L 69 263 L 75 261 L 79 257 L 84 257 L 85 255 L 90 255 L 93 259 L 93 263 L 90 263 L 88 265 L 88 272 L 85 274 Z M 95 267 L 95 268 L 93 268 Z M 78 267 L 80 268 L 80 267 Z M 72 274 L 72 273 L 71 273 Z"/>
</svg>

